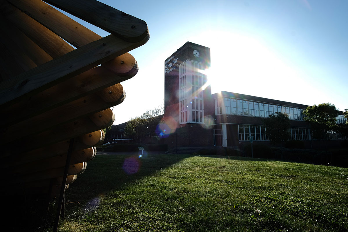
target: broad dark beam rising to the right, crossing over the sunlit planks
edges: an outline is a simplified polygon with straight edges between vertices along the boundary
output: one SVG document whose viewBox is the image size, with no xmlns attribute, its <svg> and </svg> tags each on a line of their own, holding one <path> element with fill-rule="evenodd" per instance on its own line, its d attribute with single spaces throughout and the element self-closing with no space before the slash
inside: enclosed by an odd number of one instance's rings
<svg viewBox="0 0 348 232">
<path fill-rule="evenodd" d="M 0 87 L 0 105 L 14 104 L 23 98 L 44 91 L 57 83 L 85 72 L 99 64 L 110 61 L 129 50 L 143 45 L 148 38 L 138 43 L 129 43 L 109 35 L 89 43 L 59 58 L 31 69 Z"/>
</svg>

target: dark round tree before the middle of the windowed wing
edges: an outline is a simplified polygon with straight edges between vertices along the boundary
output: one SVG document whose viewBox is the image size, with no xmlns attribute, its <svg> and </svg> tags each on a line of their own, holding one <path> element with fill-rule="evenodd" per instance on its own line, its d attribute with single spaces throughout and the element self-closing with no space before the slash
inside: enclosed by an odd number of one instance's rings
<svg viewBox="0 0 348 232">
<path fill-rule="evenodd" d="M 272 144 L 278 144 L 289 139 L 289 116 L 286 113 L 275 112 L 263 119 L 266 134 Z"/>
</svg>

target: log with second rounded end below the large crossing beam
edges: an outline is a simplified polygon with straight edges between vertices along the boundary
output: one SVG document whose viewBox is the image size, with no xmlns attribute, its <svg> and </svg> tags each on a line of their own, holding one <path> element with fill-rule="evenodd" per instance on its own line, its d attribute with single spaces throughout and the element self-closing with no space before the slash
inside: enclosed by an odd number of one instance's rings
<svg viewBox="0 0 348 232">
<path fill-rule="evenodd" d="M 78 120 L 89 114 L 118 105 L 123 102 L 124 98 L 125 93 L 121 84 L 105 88 L 98 93 L 82 97 L 35 117 L 3 128 L 0 131 L 0 137 L 2 137 L 0 144 L 6 144 L 19 138 Z M 25 130 L 22 130 L 22 128 L 25 128 Z M 21 133 L 18 133 L 18 131 L 21 131 Z"/>
</svg>

